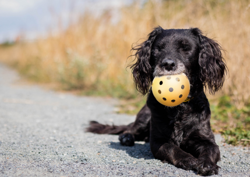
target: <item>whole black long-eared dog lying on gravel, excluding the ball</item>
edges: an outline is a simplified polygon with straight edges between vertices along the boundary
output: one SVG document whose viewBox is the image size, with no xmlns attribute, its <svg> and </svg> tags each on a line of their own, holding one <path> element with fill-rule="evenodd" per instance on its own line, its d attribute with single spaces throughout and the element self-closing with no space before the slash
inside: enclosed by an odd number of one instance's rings
<svg viewBox="0 0 250 177">
<path fill-rule="evenodd" d="M 120 134 L 122 145 L 150 140 L 155 158 L 201 175 L 218 174 L 219 147 L 210 128 L 211 111 L 204 93 L 218 91 L 227 71 L 221 47 L 198 28 L 155 28 L 148 40 L 133 48 L 137 61 L 131 66 L 137 89 L 147 103 L 127 126 L 90 122 L 93 133 Z M 150 89 L 155 76 L 185 73 L 190 81 L 190 101 L 175 107 L 160 104 Z"/>
</svg>

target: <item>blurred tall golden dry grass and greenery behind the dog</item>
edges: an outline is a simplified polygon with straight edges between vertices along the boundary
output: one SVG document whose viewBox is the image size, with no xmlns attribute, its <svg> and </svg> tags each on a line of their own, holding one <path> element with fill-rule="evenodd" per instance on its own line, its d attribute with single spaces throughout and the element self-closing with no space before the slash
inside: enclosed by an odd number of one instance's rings
<svg viewBox="0 0 250 177">
<path fill-rule="evenodd" d="M 30 80 L 54 83 L 83 95 L 119 98 L 119 112 L 135 114 L 145 103 L 127 65 L 131 46 L 156 26 L 198 27 L 224 49 L 229 74 L 223 89 L 209 96 L 212 128 L 234 145 L 250 145 L 250 1 L 148 0 L 95 16 L 84 11 L 60 33 L 33 41 L 2 43 L 0 61 Z M 207 95 L 209 95 L 207 93 Z"/>
</svg>

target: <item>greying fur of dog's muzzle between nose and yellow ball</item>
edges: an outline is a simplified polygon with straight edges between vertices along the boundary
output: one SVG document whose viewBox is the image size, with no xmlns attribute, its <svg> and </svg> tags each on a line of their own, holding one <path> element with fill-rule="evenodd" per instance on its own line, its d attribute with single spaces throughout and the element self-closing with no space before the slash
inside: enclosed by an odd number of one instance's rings
<svg viewBox="0 0 250 177">
<path fill-rule="evenodd" d="M 159 66 L 156 66 L 155 67 L 155 70 L 154 70 L 154 73 L 153 73 L 153 76 L 156 77 L 160 77 L 160 76 L 168 76 L 168 75 L 178 75 L 178 74 L 181 74 L 181 73 L 184 73 L 185 74 L 185 66 L 183 63 L 178 63 L 177 67 L 175 70 L 166 70 L 164 68 L 161 68 Z"/>
</svg>

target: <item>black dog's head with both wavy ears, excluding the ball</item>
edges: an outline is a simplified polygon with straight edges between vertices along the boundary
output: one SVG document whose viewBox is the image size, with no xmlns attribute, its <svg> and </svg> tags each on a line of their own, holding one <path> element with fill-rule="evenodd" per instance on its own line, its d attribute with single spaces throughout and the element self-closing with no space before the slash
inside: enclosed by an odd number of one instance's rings
<svg viewBox="0 0 250 177">
<path fill-rule="evenodd" d="M 185 73 L 191 90 L 197 85 L 219 90 L 225 78 L 226 65 L 221 47 L 202 35 L 198 28 L 155 28 L 148 39 L 133 48 L 136 62 L 131 66 L 136 88 L 146 94 L 155 76 Z"/>
</svg>

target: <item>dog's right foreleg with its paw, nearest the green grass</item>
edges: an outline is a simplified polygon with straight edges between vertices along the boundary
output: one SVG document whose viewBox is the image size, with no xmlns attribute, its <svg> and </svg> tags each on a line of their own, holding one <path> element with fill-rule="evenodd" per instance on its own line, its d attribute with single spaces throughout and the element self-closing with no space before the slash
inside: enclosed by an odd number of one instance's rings
<svg viewBox="0 0 250 177">
<path fill-rule="evenodd" d="M 206 135 L 198 130 L 193 132 L 187 140 L 186 149 L 198 158 L 197 171 L 201 175 L 218 174 L 219 166 L 216 163 L 220 160 L 219 146 L 214 141 L 212 132 Z"/>
</svg>

